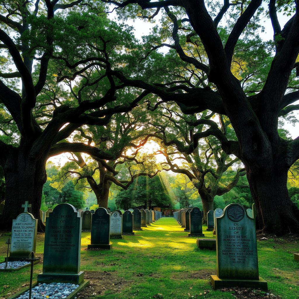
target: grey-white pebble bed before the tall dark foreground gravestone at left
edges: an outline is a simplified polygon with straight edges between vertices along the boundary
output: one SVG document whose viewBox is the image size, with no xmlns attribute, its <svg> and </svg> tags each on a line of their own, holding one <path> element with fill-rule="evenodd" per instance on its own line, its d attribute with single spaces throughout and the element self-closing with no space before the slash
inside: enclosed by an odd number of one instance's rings
<svg viewBox="0 0 299 299">
<path fill-rule="evenodd" d="M 78 287 L 78 284 L 73 283 L 39 283 L 31 289 L 31 299 L 64 299 Z M 29 290 L 17 299 L 29 299 Z"/>
</svg>

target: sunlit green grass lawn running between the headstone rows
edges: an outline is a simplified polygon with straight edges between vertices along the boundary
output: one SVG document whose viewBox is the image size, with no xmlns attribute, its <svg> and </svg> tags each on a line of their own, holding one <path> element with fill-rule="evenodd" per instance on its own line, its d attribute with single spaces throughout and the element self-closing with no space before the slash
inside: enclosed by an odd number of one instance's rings
<svg viewBox="0 0 299 299">
<path fill-rule="evenodd" d="M 205 236 L 213 238 L 213 233 L 205 229 Z M 0 233 L 1 261 L 6 256 L 5 241 L 9 236 Z M 81 270 L 90 280 L 90 287 L 78 298 L 144 299 L 157 293 L 165 299 L 234 298 L 229 291 L 213 291 L 209 283 L 210 274 L 216 274 L 216 251 L 197 248 L 196 237 L 188 237 L 174 218 L 161 218 L 143 231 L 135 231 L 135 236 L 111 241 L 112 250 L 87 251 L 90 233 L 82 233 Z M 38 256 L 42 257 L 43 246 L 44 234 L 38 234 Z M 298 299 L 299 263 L 292 253 L 299 251 L 299 239 L 258 240 L 257 248 L 260 276 L 268 281 L 269 293 Z M 42 263 L 34 266 L 33 280 L 40 272 Z M 27 286 L 29 279 L 29 267 L 0 272 L 0 298 Z"/>
</svg>

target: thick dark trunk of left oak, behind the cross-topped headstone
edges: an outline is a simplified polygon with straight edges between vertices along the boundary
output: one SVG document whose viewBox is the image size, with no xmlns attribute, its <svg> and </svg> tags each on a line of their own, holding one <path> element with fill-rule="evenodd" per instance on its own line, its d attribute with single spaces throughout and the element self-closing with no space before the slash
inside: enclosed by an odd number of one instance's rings
<svg viewBox="0 0 299 299">
<path fill-rule="evenodd" d="M 38 219 L 38 231 L 45 230 L 39 214 L 42 187 L 47 180 L 45 164 L 44 157 L 36 160 L 18 150 L 10 153 L 3 167 L 6 195 L 1 229 L 11 230 L 12 220 L 24 212 L 22 205 L 28 201 L 31 204 L 28 212 Z"/>
</svg>

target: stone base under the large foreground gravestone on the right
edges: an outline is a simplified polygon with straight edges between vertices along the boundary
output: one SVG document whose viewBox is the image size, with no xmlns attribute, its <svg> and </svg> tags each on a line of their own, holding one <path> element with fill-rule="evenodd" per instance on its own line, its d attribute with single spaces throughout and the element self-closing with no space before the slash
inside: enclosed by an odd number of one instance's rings
<svg viewBox="0 0 299 299">
<path fill-rule="evenodd" d="M 230 287 L 241 287 L 241 288 L 252 288 L 261 289 L 263 291 L 268 290 L 268 284 L 262 278 L 259 280 L 246 280 L 246 279 L 221 279 L 217 275 L 210 275 L 210 281 L 212 283 L 213 289 L 223 289 Z"/>
</svg>

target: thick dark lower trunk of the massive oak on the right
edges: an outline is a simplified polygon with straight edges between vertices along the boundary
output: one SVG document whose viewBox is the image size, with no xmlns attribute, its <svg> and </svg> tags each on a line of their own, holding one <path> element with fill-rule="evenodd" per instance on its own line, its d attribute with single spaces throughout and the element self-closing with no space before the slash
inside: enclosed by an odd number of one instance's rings
<svg viewBox="0 0 299 299">
<path fill-rule="evenodd" d="M 283 235 L 299 233 L 299 211 L 289 198 L 288 169 L 277 161 L 275 168 L 266 166 L 263 171 L 246 167 L 252 197 L 256 204 L 259 226 L 265 233 Z"/>
</svg>

